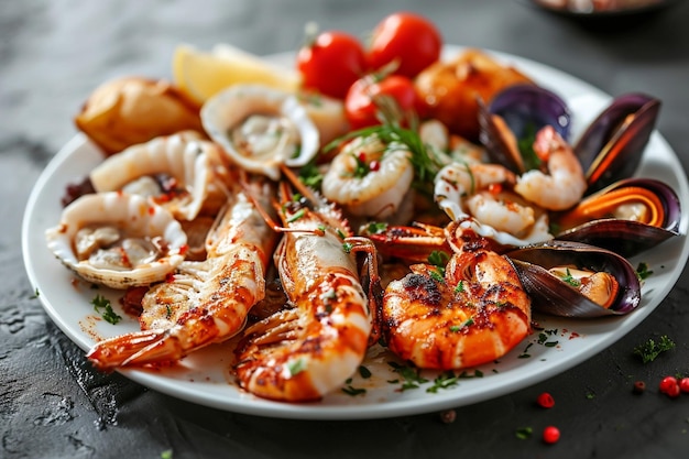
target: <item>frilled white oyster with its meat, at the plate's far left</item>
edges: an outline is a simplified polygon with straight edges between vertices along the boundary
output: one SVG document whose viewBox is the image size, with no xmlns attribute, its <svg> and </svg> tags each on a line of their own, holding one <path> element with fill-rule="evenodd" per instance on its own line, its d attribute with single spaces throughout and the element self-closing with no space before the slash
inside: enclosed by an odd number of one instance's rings
<svg viewBox="0 0 689 459">
<path fill-rule="evenodd" d="M 121 289 L 163 281 L 187 250 L 186 233 L 169 211 L 117 192 L 81 196 L 45 237 L 55 256 L 80 277 Z"/>
</svg>

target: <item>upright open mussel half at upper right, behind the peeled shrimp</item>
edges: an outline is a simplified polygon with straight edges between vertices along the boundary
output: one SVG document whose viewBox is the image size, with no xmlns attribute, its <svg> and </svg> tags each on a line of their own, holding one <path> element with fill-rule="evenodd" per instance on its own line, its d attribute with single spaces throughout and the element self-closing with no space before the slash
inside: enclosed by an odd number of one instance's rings
<svg viewBox="0 0 689 459">
<path fill-rule="evenodd" d="M 634 175 L 656 125 L 660 101 L 643 94 L 615 98 L 575 144 L 588 194 Z"/>
</svg>

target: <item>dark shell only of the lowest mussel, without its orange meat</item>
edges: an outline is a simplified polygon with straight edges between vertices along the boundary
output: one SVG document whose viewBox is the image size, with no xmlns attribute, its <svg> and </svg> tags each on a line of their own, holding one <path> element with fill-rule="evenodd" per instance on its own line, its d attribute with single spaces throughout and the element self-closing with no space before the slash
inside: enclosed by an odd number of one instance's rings
<svg viewBox="0 0 689 459">
<path fill-rule="evenodd" d="M 506 256 L 516 269 L 535 310 L 562 317 L 594 318 L 628 314 L 641 303 L 641 284 L 634 267 L 612 251 L 553 240 L 507 252 Z M 564 265 L 612 274 L 620 286 L 613 304 L 608 308 L 599 306 L 548 272 Z"/>
</svg>

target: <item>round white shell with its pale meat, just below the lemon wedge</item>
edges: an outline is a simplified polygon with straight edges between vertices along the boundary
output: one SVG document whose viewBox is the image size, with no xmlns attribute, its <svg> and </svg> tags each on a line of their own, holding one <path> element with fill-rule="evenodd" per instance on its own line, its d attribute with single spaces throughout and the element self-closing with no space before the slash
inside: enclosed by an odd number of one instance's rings
<svg viewBox="0 0 689 459">
<path fill-rule="evenodd" d="M 283 164 L 304 166 L 320 147 L 318 129 L 297 97 L 262 85 L 234 85 L 211 97 L 201 122 L 230 161 L 274 181 Z"/>
</svg>

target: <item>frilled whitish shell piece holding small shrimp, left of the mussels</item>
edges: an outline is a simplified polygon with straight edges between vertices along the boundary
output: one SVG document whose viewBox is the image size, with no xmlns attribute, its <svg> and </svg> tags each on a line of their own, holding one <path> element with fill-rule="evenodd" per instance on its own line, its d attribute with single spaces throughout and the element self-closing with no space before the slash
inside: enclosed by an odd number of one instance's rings
<svg viewBox="0 0 689 459">
<path fill-rule="evenodd" d="M 499 164 L 451 163 L 435 178 L 435 199 L 451 220 L 511 245 L 553 239 L 548 216 L 510 190 L 515 175 Z"/>
</svg>

